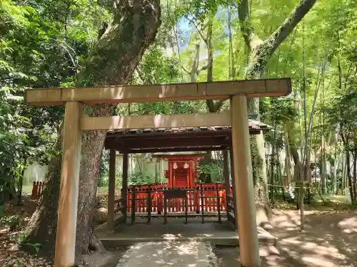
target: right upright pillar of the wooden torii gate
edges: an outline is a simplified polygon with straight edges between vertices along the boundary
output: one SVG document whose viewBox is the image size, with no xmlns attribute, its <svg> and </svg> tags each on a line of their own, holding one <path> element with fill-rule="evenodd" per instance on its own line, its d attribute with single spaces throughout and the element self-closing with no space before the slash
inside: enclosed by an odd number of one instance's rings
<svg viewBox="0 0 357 267">
<path fill-rule="evenodd" d="M 247 98 L 231 98 L 232 150 L 235 179 L 235 205 L 238 211 L 238 232 L 241 265 L 260 266 L 256 206 L 253 192 L 251 147 L 249 143 Z"/>
</svg>

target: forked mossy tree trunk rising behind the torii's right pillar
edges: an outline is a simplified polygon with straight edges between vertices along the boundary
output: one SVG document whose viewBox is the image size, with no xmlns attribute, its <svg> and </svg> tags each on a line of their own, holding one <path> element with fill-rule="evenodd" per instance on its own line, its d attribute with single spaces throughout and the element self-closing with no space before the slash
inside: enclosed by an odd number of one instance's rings
<svg viewBox="0 0 357 267">
<path fill-rule="evenodd" d="M 261 78 L 265 72 L 268 60 L 273 56 L 276 48 L 288 37 L 315 2 L 316 0 L 302 0 L 281 26 L 276 29 L 271 36 L 266 38 L 265 41 L 261 40 L 261 38 L 254 33 L 254 28 L 251 25 L 249 16 L 248 0 L 242 0 L 240 2 L 238 14 L 241 31 L 248 48 L 247 53 L 251 54 L 246 69 L 247 79 Z M 248 113 L 259 114 L 259 98 L 248 98 Z M 268 211 L 266 157 L 262 133 L 260 135 L 251 136 L 251 156 L 257 208 L 263 207 L 263 209 Z"/>
</svg>

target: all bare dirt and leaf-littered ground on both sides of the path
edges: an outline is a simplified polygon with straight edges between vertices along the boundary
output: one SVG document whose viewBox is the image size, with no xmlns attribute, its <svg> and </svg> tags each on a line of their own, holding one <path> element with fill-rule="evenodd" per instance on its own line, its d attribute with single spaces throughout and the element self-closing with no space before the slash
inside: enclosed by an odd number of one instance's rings
<svg viewBox="0 0 357 267">
<path fill-rule="evenodd" d="M 96 224 L 106 219 L 106 196 L 99 199 Z M 24 229 L 36 204 L 25 198 L 23 206 L 11 202 L 4 206 L 5 214 L 17 214 L 20 220 L 15 230 L 0 226 L 0 266 L 53 266 L 52 261 L 16 249 L 19 231 Z M 261 246 L 262 266 L 357 267 L 357 211 L 335 209 L 336 206 L 320 206 L 318 210 L 306 211 L 303 233 L 299 211 L 275 210 L 271 219 L 273 227 L 268 231 L 278 237 L 278 246 Z M 105 259 L 92 254 L 85 258 L 87 264 L 83 266 L 100 266 L 105 260 L 104 267 L 114 267 L 125 251 L 124 247 L 116 248 Z M 215 252 L 219 267 L 239 266 L 238 248 L 216 247 Z"/>
</svg>

